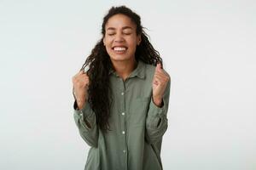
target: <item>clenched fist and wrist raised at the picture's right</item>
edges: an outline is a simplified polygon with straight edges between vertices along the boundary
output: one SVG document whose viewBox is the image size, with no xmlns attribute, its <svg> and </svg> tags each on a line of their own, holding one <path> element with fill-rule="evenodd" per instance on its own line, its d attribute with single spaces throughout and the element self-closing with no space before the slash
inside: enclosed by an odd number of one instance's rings
<svg viewBox="0 0 256 170">
<path fill-rule="evenodd" d="M 165 94 L 167 82 L 169 82 L 170 76 L 166 71 L 161 68 L 160 63 L 156 65 L 153 78 L 153 100 L 157 106 L 162 105 L 162 99 Z"/>
</svg>

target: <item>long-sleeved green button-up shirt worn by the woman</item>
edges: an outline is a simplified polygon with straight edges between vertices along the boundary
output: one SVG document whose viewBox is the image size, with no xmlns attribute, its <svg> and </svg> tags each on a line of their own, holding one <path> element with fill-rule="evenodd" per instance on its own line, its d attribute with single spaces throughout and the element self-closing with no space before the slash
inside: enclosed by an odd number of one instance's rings
<svg viewBox="0 0 256 170">
<path fill-rule="evenodd" d="M 160 170 L 160 150 L 167 128 L 171 80 L 167 83 L 163 106 L 154 105 L 152 82 L 154 65 L 139 60 L 137 68 L 123 81 L 109 71 L 113 104 L 108 119 L 111 131 L 102 133 L 89 103 L 80 111 L 74 102 L 74 120 L 79 134 L 90 145 L 85 170 Z M 90 122 L 90 127 L 84 122 Z"/>
</svg>

